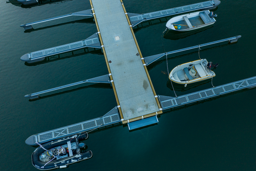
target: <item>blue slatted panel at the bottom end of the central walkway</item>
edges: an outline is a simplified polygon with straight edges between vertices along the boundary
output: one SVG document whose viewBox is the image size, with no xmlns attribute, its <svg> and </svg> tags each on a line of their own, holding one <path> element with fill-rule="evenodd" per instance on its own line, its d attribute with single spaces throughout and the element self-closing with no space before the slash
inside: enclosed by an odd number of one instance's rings
<svg viewBox="0 0 256 171">
<path fill-rule="evenodd" d="M 148 126 L 158 122 L 157 116 L 148 117 L 139 121 L 128 123 L 129 130 L 136 129 L 143 126 Z"/>
</svg>

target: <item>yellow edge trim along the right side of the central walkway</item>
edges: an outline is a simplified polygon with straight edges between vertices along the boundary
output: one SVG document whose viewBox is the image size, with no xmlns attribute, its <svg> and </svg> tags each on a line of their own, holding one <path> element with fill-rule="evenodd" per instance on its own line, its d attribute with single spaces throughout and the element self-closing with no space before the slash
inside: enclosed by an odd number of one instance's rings
<svg viewBox="0 0 256 171">
<path fill-rule="evenodd" d="M 90 0 L 90 1 L 91 1 L 91 0 Z M 121 1 L 122 6 L 123 6 L 124 12 L 127 13 L 126 10 L 125 10 L 125 6 L 123 5 L 123 1 L 122 1 L 122 0 L 120 0 L 120 1 Z M 125 14 L 125 16 L 126 16 L 126 19 L 127 19 L 128 23 L 129 23 L 129 25 L 131 25 L 131 22 L 130 22 L 130 19 L 129 19 L 128 15 Z M 134 32 L 133 32 L 133 28 L 130 27 L 130 29 L 131 29 L 131 33 L 132 33 L 132 35 L 133 35 L 133 39 L 134 39 L 134 41 L 135 41 L 135 44 L 136 44 L 136 46 L 137 46 L 137 49 L 138 49 L 138 51 L 139 51 L 140 58 L 142 58 L 142 54 L 141 54 L 141 52 L 140 52 L 140 47 L 139 47 L 138 42 L 137 42 L 137 40 L 136 40 L 135 34 L 134 34 Z M 141 61 L 142 61 L 143 64 L 145 64 L 144 60 L 141 60 Z M 153 91 L 153 94 L 154 94 L 154 96 L 157 96 L 157 94 L 155 93 L 155 89 L 154 89 L 154 87 L 153 87 L 152 81 L 151 81 L 151 79 L 150 79 L 150 76 L 149 76 L 149 74 L 148 74 L 148 69 L 147 69 L 146 65 L 144 65 L 144 69 L 145 69 L 146 74 L 147 74 L 147 76 L 148 76 L 148 80 L 149 80 L 151 89 L 152 89 L 152 91 Z M 160 103 L 159 103 L 159 101 L 158 101 L 158 98 L 157 98 L 157 97 L 155 97 L 155 100 L 157 101 L 158 108 L 159 108 L 159 109 L 162 108 L 161 105 L 160 105 Z M 130 120 L 129 120 L 129 121 L 130 121 Z"/>
</svg>

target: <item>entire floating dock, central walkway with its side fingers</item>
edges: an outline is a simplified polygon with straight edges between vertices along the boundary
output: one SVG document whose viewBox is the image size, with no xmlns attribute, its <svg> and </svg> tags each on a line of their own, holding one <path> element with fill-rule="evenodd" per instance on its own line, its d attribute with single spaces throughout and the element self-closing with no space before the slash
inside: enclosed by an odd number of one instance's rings
<svg viewBox="0 0 256 171">
<path fill-rule="evenodd" d="M 218 0 L 210 0 L 147 14 L 127 13 L 122 0 L 90 0 L 90 4 L 91 11 L 85 10 L 81 12 L 81 14 L 89 16 L 93 15 L 98 31 L 96 34 L 79 42 L 28 53 L 23 55 L 21 59 L 27 62 L 35 62 L 50 55 L 81 49 L 83 47 L 101 48 L 109 73 L 102 77 L 90 79 L 91 81 L 89 82 L 93 82 L 92 80 L 94 80 L 94 82 L 110 82 L 113 86 L 118 106 L 103 117 L 30 136 L 26 140 L 26 143 L 29 145 L 35 145 L 35 142 L 49 142 L 53 139 L 78 134 L 109 124 L 115 124 L 117 122 L 122 122 L 123 124 L 128 123 L 130 130 L 136 129 L 157 123 L 157 114 L 161 114 L 163 109 L 169 109 L 190 102 L 200 101 L 228 92 L 256 86 L 256 77 L 252 77 L 250 79 L 225 84 L 223 86 L 176 98 L 157 96 L 155 93 L 148 74 L 147 65 L 164 55 L 198 48 L 198 46 L 143 58 L 132 27 L 145 20 L 193 10 L 215 8 L 219 5 Z M 68 17 L 68 15 L 60 17 Z M 60 17 L 49 18 L 39 22 L 46 22 L 47 20 L 53 20 Z M 24 28 L 29 28 L 29 25 L 35 23 L 38 22 L 24 25 Z M 203 45 L 210 45 L 226 40 L 229 40 L 232 43 L 236 42 L 239 37 L 241 36 L 222 39 Z M 199 47 L 203 45 L 199 45 Z M 29 94 L 27 97 L 36 98 L 36 96 L 41 93 L 82 84 L 84 82 L 88 82 L 88 80 Z"/>
</svg>

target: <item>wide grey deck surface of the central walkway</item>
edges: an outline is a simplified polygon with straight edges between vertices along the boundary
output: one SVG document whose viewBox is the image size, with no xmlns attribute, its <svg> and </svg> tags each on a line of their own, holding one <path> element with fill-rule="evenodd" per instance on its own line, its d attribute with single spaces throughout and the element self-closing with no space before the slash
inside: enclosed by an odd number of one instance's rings
<svg viewBox="0 0 256 171">
<path fill-rule="evenodd" d="M 124 120 L 159 111 L 120 0 L 92 0 Z"/>
</svg>

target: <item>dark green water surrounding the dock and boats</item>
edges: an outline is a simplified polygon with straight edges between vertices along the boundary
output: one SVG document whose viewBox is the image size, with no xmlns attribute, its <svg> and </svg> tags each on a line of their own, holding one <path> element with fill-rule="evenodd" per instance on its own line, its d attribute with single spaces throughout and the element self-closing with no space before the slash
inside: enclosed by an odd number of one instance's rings
<svg viewBox="0 0 256 171">
<path fill-rule="evenodd" d="M 199 0 L 138 1 L 125 0 L 127 12 L 147 13 L 179 7 Z M 201 58 L 219 67 L 214 70 L 214 86 L 256 76 L 255 72 L 255 1 L 222 0 L 214 27 L 189 37 L 161 38 L 165 22 L 141 28 L 136 39 L 143 57 L 182 49 L 236 35 L 237 44 L 227 42 L 202 47 Z M 40 7 L 21 8 L 0 2 L 0 170 L 37 170 L 31 163 L 34 147 L 25 144 L 27 137 L 103 116 L 116 106 L 113 89 L 84 87 L 77 91 L 55 94 L 34 102 L 24 95 L 108 74 L 103 55 L 76 57 L 27 66 L 20 57 L 27 52 L 83 40 L 93 35 L 93 23 L 70 23 L 24 33 L 19 25 L 90 8 L 88 0 L 73 0 Z M 68 17 L 34 28 L 81 20 Z M 168 39 L 167 39 L 168 38 Z M 163 44 L 163 46 L 162 46 Z M 205 50 L 207 49 L 207 50 Z M 175 57 L 174 59 L 171 59 Z M 197 50 L 168 56 L 168 68 L 199 59 Z M 155 91 L 174 96 L 167 85 L 166 60 L 148 66 Z M 72 87 L 74 90 L 86 85 Z M 211 82 L 189 89 L 183 95 L 210 88 Z M 61 91 L 61 92 L 63 92 Z M 223 170 L 256 169 L 256 89 L 217 98 L 180 110 L 167 110 L 159 123 L 138 131 L 114 127 L 90 135 L 86 141 L 93 158 L 72 164 L 65 170 Z"/>
</svg>

